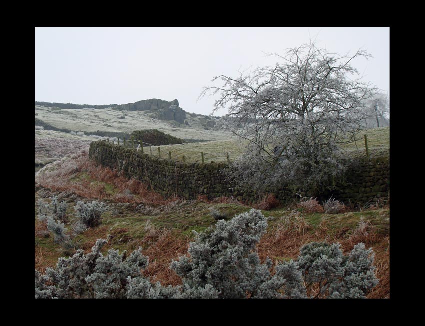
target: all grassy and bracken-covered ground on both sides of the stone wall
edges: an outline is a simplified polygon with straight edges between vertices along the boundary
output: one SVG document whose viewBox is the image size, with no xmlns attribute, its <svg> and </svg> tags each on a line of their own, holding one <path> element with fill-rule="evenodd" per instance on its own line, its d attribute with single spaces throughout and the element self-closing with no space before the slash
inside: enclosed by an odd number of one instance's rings
<svg viewBox="0 0 425 326">
<path fill-rule="evenodd" d="M 72 256 L 77 249 L 88 254 L 97 239 L 107 238 L 101 250 L 103 255 L 109 249 L 130 253 L 142 247 L 143 254 L 149 257 L 149 266 L 143 272 L 145 277 L 162 285 L 181 285 L 182 279 L 169 269 L 169 264 L 172 259 L 187 254 L 189 243 L 196 239 L 197 233 L 215 227 L 213 211 L 231 220 L 255 207 L 261 209 L 268 225 L 257 245 L 261 262 L 269 257 L 276 266 L 297 259 L 302 245 L 314 241 L 339 242 L 345 254 L 362 242 L 366 248 L 373 248 L 375 273 L 379 278 L 379 284 L 367 297 L 390 297 L 389 200 L 378 200 L 355 209 L 347 205 L 339 211 L 325 213 L 325 203 L 314 200 L 308 205 L 294 200 L 282 206 L 269 197 L 254 203 L 240 202 L 233 197 L 207 200 L 203 195 L 194 200 L 165 199 L 139 180 L 88 160 L 90 142 L 108 136 L 116 143 L 116 137 L 127 137 L 136 130 L 158 129 L 185 141 L 195 141 L 161 145 L 162 157 L 168 157 L 171 151 L 173 160 L 181 160 L 184 155 L 186 162 L 196 162 L 201 161 L 203 152 L 208 163 L 234 160 L 243 154 L 243 142 L 214 130 L 208 126 L 211 117 L 197 114 L 186 114 L 182 124 L 158 119 L 150 109 L 36 106 L 35 113 L 39 119 L 35 130 L 35 266 L 41 273 L 54 267 L 59 257 Z M 53 130 L 44 129 L 50 127 Z M 389 127 L 359 133 L 356 141 L 347 144 L 345 149 L 364 156 L 364 134 L 367 134 L 370 152 L 389 151 Z M 158 147 L 151 147 L 153 155 L 157 155 Z M 149 154 L 147 148 L 144 152 Z M 51 204 L 53 196 L 66 202 L 63 228 L 69 238 L 63 242 L 55 240 L 54 232 L 39 214 L 43 203 Z M 78 202 L 93 200 L 107 206 L 101 224 L 74 233 Z"/>
</svg>

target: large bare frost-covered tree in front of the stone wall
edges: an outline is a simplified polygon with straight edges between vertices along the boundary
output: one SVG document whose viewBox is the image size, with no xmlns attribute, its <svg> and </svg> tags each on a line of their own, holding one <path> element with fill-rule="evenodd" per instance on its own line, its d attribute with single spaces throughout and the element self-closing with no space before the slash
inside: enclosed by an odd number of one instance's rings
<svg viewBox="0 0 425 326">
<path fill-rule="evenodd" d="M 370 55 L 339 55 L 314 43 L 272 55 L 281 63 L 214 77 L 221 84 L 200 96 L 218 94 L 213 112 L 227 109 L 224 126 L 249 143 L 232 176 L 264 192 L 275 184 L 332 187 L 343 174 L 339 145 L 353 140 L 375 93 L 350 62 Z"/>
</svg>

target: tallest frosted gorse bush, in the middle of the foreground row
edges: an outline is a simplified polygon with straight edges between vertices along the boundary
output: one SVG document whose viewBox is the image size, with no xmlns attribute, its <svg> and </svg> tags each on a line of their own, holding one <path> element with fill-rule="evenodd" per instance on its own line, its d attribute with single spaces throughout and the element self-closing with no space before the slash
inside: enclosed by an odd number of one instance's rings
<svg viewBox="0 0 425 326">
<path fill-rule="evenodd" d="M 190 287 L 211 285 L 219 298 L 277 297 L 277 282 L 269 269 L 272 262 L 261 264 L 255 245 L 265 233 L 267 222 L 259 210 L 219 220 L 215 230 L 199 234 L 190 243 L 190 258 L 172 261 L 173 269 Z"/>
</svg>

